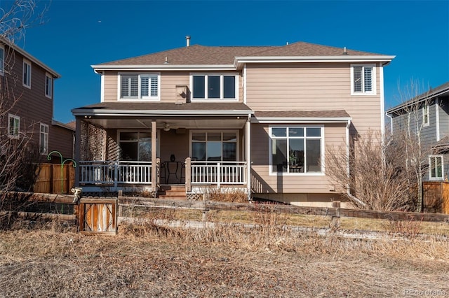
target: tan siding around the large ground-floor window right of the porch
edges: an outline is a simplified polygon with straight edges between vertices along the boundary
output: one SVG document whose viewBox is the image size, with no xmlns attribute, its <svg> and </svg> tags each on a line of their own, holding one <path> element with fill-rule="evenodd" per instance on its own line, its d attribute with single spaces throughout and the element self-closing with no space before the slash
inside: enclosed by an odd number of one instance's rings
<svg viewBox="0 0 449 298">
<path fill-rule="evenodd" d="M 255 193 L 329 193 L 331 184 L 325 175 L 269 174 L 268 125 L 251 125 L 251 187 Z M 324 146 L 344 146 L 345 124 L 329 124 L 324 128 Z M 326 160 L 325 160 L 326 165 Z"/>
</svg>

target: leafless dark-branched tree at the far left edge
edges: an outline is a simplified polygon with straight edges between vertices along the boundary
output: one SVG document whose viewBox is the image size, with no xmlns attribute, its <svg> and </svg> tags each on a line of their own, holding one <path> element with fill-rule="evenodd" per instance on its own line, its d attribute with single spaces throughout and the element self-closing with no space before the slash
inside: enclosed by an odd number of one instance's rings
<svg viewBox="0 0 449 298">
<path fill-rule="evenodd" d="M 34 0 L 15 0 L 0 2 L 0 42 L 3 45 L 2 69 L 0 76 L 0 227 L 11 226 L 15 211 L 29 203 L 29 195 L 15 191 L 32 192 L 39 167 L 39 146 L 32 138 L 34 123 L 23 123 L 16 129 L 14 121 L 8 117 L 17 110 L 16 104 L 22 99 L 18 90 L 21 73 L 14 71 L 15 53 L 18 41 L 25 41 L 29 27 L 43 24 L 48 3 Z M 38 5 L 39 4 L 39 5 Z M 40 6 L 42 4 L 42 6 Z M 29 126 L 27 126 L 29 125 Z"/>
</svg>

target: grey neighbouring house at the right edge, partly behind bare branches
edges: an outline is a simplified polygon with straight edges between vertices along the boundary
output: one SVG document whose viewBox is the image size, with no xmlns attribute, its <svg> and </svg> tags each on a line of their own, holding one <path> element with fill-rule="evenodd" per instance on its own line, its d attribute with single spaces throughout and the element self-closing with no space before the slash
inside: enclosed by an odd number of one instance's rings
<svg viewBox="0 0 449 298">
<path fill-rule="evenodd" d="M 449 82 L 389 108 L 391 132 L 411 129 L 427 148 L 425 181 L 447 181 L 449 171 Z M 417 133 L 419 132 L 419 133 Z"/>
</svg>

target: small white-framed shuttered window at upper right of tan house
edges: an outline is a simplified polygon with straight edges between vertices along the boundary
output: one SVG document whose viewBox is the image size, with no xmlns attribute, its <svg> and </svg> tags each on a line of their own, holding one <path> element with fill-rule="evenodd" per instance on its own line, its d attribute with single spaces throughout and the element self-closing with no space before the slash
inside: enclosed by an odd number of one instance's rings
<svg viewBox="0 0 449 298">
<path fill-rule="evenodd" d="M 351 94 L 376 94 L 374 64 L 351 64 Z"/>
</svg>

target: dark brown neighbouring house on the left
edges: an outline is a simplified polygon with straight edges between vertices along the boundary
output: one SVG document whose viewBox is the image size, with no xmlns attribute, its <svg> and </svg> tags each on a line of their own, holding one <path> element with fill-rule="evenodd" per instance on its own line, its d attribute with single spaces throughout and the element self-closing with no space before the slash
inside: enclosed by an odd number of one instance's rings
<svg viewBox="0 0 449 298">
<path fill-rule="evenodd" d="M 53 150 L 73 157 L 74 128 L 53 120 L 54 81 L 59 77 L 25 50 L 0 39 L 2 136 L 29 139 L 43 162 Z"/>
</svg>

